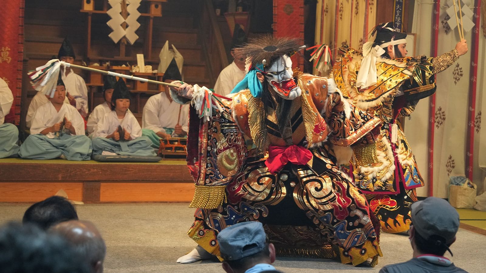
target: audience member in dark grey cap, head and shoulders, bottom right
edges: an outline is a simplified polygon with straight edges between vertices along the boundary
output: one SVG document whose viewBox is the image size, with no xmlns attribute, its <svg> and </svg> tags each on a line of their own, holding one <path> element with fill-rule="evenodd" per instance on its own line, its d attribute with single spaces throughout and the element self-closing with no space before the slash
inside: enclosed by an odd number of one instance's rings
<svg viewBox="0 0 486 273">
<path fill-rule="evenodd" d="M 444 257 L 456 239 L 459 214 L 449 202 L 437 197 L 417 201 L 410 207 L 412 224 L 409 240 L 413 258 L 404 263 L 387 265 L 382 273 L 465 272 Z"/>
</svg>

